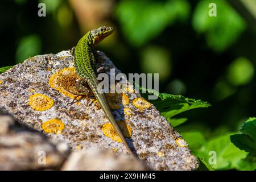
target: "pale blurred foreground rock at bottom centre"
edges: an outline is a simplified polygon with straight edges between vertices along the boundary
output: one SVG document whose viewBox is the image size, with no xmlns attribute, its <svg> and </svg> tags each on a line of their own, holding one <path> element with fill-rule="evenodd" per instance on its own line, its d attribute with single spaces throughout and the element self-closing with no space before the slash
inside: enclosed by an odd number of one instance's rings
<svg viewBox="0 0 256 182">
<path fill-rule="evenodd" d="M 64 171 L 144 171 L 143 163 L 124 154 L 90 148 L 73 152 L 64 163 Z"/>
</svg>

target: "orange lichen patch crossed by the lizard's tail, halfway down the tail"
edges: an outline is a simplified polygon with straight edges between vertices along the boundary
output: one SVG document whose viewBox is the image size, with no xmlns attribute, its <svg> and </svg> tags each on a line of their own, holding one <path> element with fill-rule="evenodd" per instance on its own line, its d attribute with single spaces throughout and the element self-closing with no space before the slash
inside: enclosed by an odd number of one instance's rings
<svg viewBox="0 0 256 182">
<path fill-rule="evenodd" d="M 118 121 L 117 124 L 120 127 L 120 129 L 122 130 L 123 136 L 126 138 L 130 138 L 131 137 L 131 127 L 127 126 L 126 123 L 122 122 L 122 121 Z M 119 143 L 122 142 L 122 139 L 118 136 L 118 134 L 115 133 L 112 123 L 105 123 L 102 126 L 101 130 L 103 131 L 103 134 L 106 137 L 111 138 L 115 142 L 119 142 Z"/>
</svg>

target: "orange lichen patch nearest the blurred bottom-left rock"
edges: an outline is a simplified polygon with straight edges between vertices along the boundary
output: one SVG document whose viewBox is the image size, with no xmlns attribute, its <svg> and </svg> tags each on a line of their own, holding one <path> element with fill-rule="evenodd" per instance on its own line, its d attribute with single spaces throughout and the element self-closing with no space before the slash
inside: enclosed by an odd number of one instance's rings
<svg viewBox="0 0 256 182">
<path fill-rule="evenodd" d="M 41 127 L 45 133 L 60 134 L 62 130 L 65 128 L 65 125 L 59 119 L 51 119 L 49 121 L 44 122 L 41 125 Z"/>
</svg>

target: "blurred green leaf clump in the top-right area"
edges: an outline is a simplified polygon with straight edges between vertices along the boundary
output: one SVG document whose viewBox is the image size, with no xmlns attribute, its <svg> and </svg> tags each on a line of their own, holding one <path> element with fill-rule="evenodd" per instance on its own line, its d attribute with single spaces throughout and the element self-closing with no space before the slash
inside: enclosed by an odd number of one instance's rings
<svg viewBox="0 0 256 182">
<path fill-rule="evenodd" d="M 193 13 L 193 28 L 205 34 L 208 46 L 216 52 L 224 51 L 231 46 L 246 23 L 241 16 L 224 0 L 214 0 L 217 6 L 217 16 L 209 16 L 208 7 L 212 0 L 201 0 Z"/>
</svg>

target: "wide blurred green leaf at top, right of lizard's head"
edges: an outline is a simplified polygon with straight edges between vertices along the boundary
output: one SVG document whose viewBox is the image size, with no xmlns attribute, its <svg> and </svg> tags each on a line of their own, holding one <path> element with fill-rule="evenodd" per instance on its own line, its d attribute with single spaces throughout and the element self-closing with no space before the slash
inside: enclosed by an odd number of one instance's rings
<svg viewBox="0 0 256 182">
<path fill-rule="evenodd" d="M 186 0 L 126 0 L 118 3 L 115 17 L 127 40 L 134 46 L 142 46 L 175 20 L 188 19 L 189 12 Z"/>
</svg>

